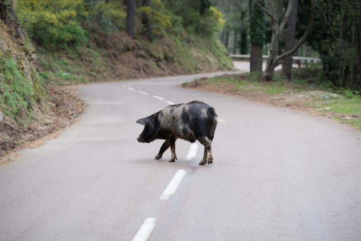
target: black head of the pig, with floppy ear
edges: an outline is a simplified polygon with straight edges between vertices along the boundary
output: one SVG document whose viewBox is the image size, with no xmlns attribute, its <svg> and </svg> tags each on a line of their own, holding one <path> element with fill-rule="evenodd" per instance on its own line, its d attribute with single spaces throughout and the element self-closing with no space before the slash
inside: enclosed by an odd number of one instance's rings
<svg viewBox="0 0 361 241">
<path fill-rule="evenodd" d="M 137 123 L 144 125 L 144 129 L 137 138 L 137 141 L 149 143 L 158 139 L 158 114 L 159 112 L 137 121 Z"/>
</svg>

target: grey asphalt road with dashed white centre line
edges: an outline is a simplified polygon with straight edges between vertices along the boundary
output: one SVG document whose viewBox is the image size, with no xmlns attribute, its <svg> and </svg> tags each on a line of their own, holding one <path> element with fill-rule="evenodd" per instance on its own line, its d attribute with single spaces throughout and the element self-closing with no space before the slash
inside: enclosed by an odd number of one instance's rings
<svg viewBox="0 0 361 241">
<path fill-rule="evenodd" d="M 0 240 L 361 240 L 360 131 L 176 87 L 194 78 L 79 87 L 81 121 L 0 167 Z M 190 100 L 226 120 L 213 165 L 181 140 L 154 160 L 136 120 Z"/>
</svg>

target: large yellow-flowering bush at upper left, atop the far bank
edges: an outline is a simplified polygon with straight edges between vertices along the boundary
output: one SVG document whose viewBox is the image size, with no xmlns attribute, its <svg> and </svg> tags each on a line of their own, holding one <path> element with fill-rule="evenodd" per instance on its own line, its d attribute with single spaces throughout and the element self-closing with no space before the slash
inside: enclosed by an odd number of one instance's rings
<svg viewBox="0 0 361 241">
<path fill-rule="evenodd" d="M 17 13 L 30 38 L 46 48 L 87 42 L 80 18 L 87 13 L 82 0 L 19 0 Z"/>
</svg>

